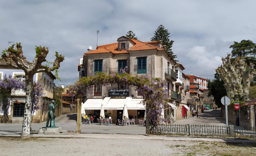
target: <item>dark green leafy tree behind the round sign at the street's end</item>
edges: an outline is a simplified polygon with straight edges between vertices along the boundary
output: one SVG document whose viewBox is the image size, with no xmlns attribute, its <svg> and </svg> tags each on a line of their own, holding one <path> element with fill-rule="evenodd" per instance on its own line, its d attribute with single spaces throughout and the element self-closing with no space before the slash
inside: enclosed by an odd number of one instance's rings
<svg viewBox="0 0 256 156">
<path fill-rule="evenodd" d="M 220 102 L 220 99 L 227 95 L 227 91 L 224 87 L 224 82 L 220 79 L 217 73 L 215 74 L 212 81 L 208 81 L 207 88 L 209 89 L 208 96 L 212 95 L 214 97 L 215 103 L 218 105 L 218 107 L 221 107 L 222 103 Z"/>
</svg>

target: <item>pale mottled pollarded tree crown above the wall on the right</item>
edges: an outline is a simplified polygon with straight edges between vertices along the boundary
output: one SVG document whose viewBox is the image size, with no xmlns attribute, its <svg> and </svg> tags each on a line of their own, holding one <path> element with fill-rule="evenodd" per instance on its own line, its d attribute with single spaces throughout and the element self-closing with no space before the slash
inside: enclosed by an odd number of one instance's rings
<svg viewBox="0 0 256 156">
<path fill-rule="evenodd" d="M 230 54 L 222 62 L 216 73 L 224 81 L 227 95 L 237 101 L 249 100 L 250 83 L 256 73 L 253 63 L 248 65 L 244 57 L 236 57 L 231 63 Z"/>
</svg>

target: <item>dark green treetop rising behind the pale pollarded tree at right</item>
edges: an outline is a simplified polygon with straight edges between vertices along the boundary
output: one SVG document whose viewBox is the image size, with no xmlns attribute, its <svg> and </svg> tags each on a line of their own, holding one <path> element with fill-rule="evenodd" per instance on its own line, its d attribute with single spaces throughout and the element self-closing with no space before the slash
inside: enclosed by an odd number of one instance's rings
<svg viewBox="0 0 256 156">
<path fill-rule="evenodd" d="M 240 43 L 234 41 L 234 44 L 230 45 L 232 57 L 245 57 L 256 54 L 256 44 L 251 40 L 241 40 Z"/>
</svg>

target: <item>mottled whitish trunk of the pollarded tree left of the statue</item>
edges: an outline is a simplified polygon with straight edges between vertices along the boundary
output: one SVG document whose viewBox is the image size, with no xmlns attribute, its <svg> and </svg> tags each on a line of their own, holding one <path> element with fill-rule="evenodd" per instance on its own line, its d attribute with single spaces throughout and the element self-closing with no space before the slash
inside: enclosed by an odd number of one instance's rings
<svg viewBox="0 0 256 156">
<path fill-rule="evenodd" d="M 33 74 L 32 76 L 26 75 L 26 103 L 21 131 L 21 138 L 30 137 L 30 121 L 31 121 L 31 110 L 32 110 L 32 99 L 33 99 Z"/>
</svg>

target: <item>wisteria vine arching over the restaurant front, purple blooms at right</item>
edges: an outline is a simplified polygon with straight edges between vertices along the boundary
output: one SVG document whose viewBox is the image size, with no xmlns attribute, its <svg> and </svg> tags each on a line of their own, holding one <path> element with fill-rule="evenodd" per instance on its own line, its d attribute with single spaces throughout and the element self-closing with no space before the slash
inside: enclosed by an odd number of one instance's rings
<svg viewBox="0 0 256 156">
<path fill-rule="evenodd" d="M 73 95 L 82 94 L 85 96 L 87 89 L 96 84 L 121 84 L 136 87 L 144 99 L 142 101 L 143 105 L 146 105 L 149 124 L 151 126 L 150 130 L 154 127 L 158 127 L 161 119 L 165 120 L 161 117 L 163 107 L 166 105 L 168 97 L 165 92 L 167 83 L 164 80 L 160 78 L 149 80 L 146 75 L 131 76 L 126 72 L 122 72 L 122 74 L 112 73 L 110 75 L 106 75 L 103 72 L 96 74 L 92 73 L 90 76 L 82 77 L 73 85 L 70 85 L 70 93 Z"/>
</svg>

